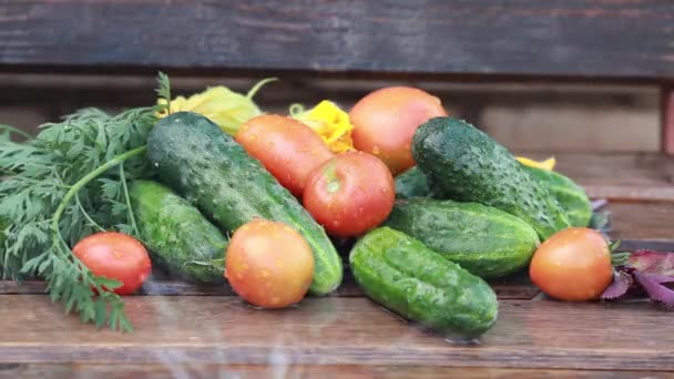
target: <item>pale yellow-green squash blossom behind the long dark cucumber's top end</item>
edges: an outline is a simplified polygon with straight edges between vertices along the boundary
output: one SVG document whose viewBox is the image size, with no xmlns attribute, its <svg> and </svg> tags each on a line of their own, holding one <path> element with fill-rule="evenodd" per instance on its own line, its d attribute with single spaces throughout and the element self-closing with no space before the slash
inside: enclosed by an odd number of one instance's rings
<svg viewBox="0 0 674 379">
<path fill-rule="evenodd" d="M 275 80 L 275 78 L 269 78 L 257 82 L 245 95 L 218 85 L 190 98 L 177 96 L 171 101 L 168 111 L 170 113 L 182 111 L 198 113 L 216 123 L 225 133 L 236 135 L 241 124 L 262 114 L 253 102 L 253 96 L 263 85 Z M 165 103 L 165 100 L 160 100 L 161 103 Z M 166 114 L 160 114 L 160 116 L 163 117 Z"/>
</svg>

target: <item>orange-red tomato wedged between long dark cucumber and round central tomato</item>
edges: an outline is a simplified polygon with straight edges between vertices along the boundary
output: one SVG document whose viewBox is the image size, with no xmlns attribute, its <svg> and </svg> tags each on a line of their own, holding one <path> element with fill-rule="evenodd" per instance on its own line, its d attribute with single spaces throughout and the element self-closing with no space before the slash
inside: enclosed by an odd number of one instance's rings
<svg viewBox="0 0 674 379">
<path fill-rule="evenodd" d="M 277 114 L 263 114 L 244 123 L 236 142 L 295 196 L 302 195 L 307 177 L 333 152 L 309 126 Z"/>
</svg>

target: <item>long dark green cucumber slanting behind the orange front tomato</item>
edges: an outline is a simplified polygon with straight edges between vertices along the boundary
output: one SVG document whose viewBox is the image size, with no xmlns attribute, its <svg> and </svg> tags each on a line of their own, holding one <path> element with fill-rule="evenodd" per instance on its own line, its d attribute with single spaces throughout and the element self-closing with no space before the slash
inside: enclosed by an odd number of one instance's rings
<svg viewBox="0 0 674 379">
<path fill-rule="evenodd" d="M 341 259 L 325 231 L 259 161 L 208 119 L 178 112 L 160 120 L 147 139 L 147 156 L 160 180 L 222 231 L 254 218 L 295 228 L 314 252 L 313 294 L 326 295 L 341 283 Z"/>
</svg>

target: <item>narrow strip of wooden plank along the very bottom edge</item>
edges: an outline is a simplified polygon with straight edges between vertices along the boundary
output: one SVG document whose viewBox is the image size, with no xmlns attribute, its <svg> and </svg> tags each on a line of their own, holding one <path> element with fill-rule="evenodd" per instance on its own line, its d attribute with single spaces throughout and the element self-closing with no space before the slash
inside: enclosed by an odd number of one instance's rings
<svg viewBox="0 0 674 379">
<path fill-rule="evenodd" d="M 428 366 L 307 366 L 278 362 L 269 366 L 252 365 L 90 365 L 90 363 L 7 363 L 0 365 L 0 379 L 14 378 L 672 378 L 663 371 L 600 371 L 513 369 L 483 367 Z"/>
</svg>

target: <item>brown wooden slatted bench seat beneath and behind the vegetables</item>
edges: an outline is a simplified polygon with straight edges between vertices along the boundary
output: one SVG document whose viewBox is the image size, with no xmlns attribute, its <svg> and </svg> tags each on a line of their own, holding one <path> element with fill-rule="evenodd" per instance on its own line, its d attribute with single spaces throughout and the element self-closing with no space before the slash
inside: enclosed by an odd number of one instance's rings
<svg viewBox="0 0 674 379">
<path fill-rule="evenodd" d="M 674 164 L 664 156 L 558 158 L 560 170 L 581 183 L 594 183 L 600 193 L 620 186 L 634 194 L 666 187 Z M 654 162 L 658 164 L 653 166 Z M 672 198 L 650 203 L 620 198 L 606 207 L 613 238 L 622 238 L 630 248 L 674 249 Z M 660 378 L 674 371 L 672 314 L 652 304 L 553 301 L 521 278 L 493 287 L 500 299 L 499 320 L 478 345 L 461 345 L 382 310 L 351 281 L 333 296 L 308 298 L 296 308 L 261 311 L 226 285 L 156 279 L 144 286 L 145 296 L 127 298 L 136 328 L 127 335 L 95 330 L 76 317 L 63 316 L 41 294 L 42 283 L 4 281 L 0 283 L 0 378 L 41 372 L 64 378 Z"/>
</svg>

